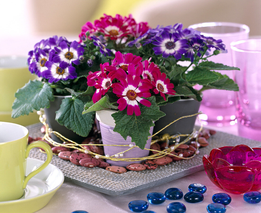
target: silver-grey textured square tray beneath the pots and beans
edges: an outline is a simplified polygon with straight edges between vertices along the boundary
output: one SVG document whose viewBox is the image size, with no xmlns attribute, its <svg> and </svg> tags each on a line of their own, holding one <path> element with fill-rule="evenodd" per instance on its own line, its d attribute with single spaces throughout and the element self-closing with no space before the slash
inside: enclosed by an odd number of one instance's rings
<svg viewBox="0 0 261 213">
<path fill-rule="evenodd" d="M 33 137 L 41 135 L 41 123 L 27 126 L 29 134 Z M 53 156 L 51 163 L 62 170 L 65 180 L 98 192 L 109 195 L 126 195 L 146 188 L 160 185 L 177 178 L 203 170 L 202 158 L 209 154 L 211 149 L 222 146 L 235 146 L 245 144 L 250 147 L 261 147 L 259 141 L 249 140 L 223 132 L 217 132 L 208 139 L 209 145 L 200 148 L 200 154 L 190 160 L 180 160 L 155 170 L 128 171 L 116 174 L 98 167 L 86 168 Z M 32 149 L 29 157 L 45 160 L 46 156 L 39 149 Z"/>
</svg>

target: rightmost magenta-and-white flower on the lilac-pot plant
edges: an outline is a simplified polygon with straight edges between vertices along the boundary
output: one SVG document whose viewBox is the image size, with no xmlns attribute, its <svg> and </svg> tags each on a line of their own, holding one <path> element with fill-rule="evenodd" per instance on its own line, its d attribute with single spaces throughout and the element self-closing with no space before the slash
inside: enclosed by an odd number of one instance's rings
<svg viewBox="0 0 261 213">
<path fill-rule="evenodd" d="M 160 71 L 153 73 L 154 81 L 152 81 L 152 85 L 156 87 L 153 92 L 155 94 L 160 93 L 161 96 L 166 100 L 165 94 L 175 95 L 175 90 L 173 90 L 174 85 L 170 83 L 170 80 L 166 78 L 165 73 L 161 73 Z"/>
</svg>

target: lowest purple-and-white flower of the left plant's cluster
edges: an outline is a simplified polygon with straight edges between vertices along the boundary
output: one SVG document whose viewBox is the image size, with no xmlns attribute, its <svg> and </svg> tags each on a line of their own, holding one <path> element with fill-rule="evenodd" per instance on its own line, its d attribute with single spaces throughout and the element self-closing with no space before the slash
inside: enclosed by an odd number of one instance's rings
<svg viewBox="0 0 261 213">
<path fill-rule="evenodd" d="M 74 79 L 77 77 L 76 68 L 69 66 L 65 61 L 61 61 L 60 63 L 47 61 L 46 67 L 48 70 L 44 73 L 44 78 L 49 79 L 49 83 L 56 83 L 59 80 Z"/>
</svg>

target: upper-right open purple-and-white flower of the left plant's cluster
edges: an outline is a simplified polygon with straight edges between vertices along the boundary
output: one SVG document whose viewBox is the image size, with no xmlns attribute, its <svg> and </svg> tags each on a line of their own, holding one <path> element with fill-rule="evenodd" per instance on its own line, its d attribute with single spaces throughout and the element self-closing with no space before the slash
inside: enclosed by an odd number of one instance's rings
<svg viewBox="0 0 261 213">
<path fill-rule="evenodd" d="M 84 48 L 76 41 L 73 41 L 69 46 L 67 42 L 63 40 L 58 47 L 55 47 L 54 49 L 57 54 L 52 58 L 53 61 L 56 63 L 64 61 L 68 65 L 71 65 L 72 63 L 79 65 L 79 57 L 84 53 Z"/>
</svg>

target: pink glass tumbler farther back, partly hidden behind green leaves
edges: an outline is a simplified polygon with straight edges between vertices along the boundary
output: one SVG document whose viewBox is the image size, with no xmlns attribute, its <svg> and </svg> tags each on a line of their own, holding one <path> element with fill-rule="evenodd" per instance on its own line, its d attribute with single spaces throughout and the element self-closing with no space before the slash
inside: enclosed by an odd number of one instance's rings
<svg viewBox="0 0 261 213">
<path fill-rule="evenodd" d="M 244 24 L 229 22 L 207 22 L 194 24 L 188 28 L 198 30 L 204 36 L 210 36 L 215 39 L 221 39 L 226 45 L 227 53 L 220 53 L 209 57 L 209 61 L 232 66 L 230 43 L 247 39 L 249 27 Z M 224 70 L 226 74 L 233 79 L 232 70 Z M 235 124 L 235 94 L 234 91 L 209 89 L 203 91 L 203 100 L 200 105 L 200 111 L 204 114 L 199 115 L 203 124 L 212 124 L 216 126 L 234 125 Z"/>
</svg>

